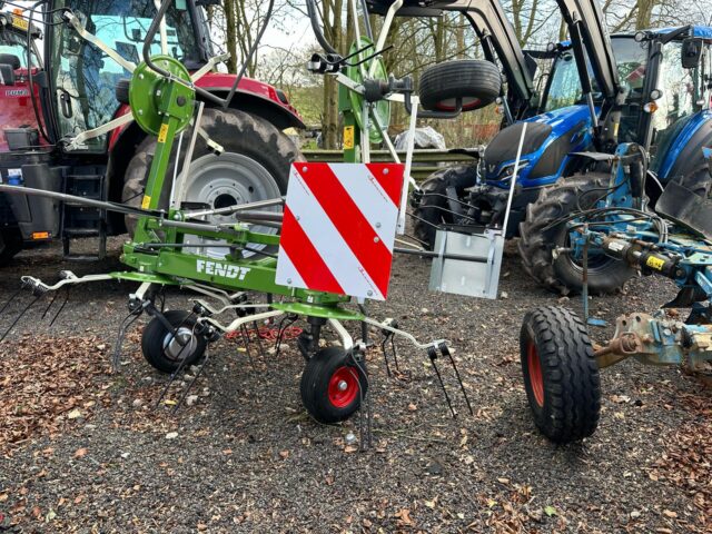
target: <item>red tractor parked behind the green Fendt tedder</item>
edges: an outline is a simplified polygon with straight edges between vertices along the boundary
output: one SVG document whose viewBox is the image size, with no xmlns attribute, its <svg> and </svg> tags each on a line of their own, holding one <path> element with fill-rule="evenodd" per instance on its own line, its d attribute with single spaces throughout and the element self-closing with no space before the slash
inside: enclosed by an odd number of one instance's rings
<svg viewBox="0 0 712 534">
<path fill-rule="evenodd" d="M 191 71 L 207 69 L 196 82 L 217 97 L 230 91 L 235 75 L 214 71 L 215 57 L 204 7 L 215 0 L 178 0 L 166 16 L 166 31 L 156 40 Z M 2 2 L 0 1 L 0 7 Z M 81 195 L 113 202 L 140 202 L 156 139 L 135 123 L 69 144 L 129 112 L 116 97 L 129 73 L 122 62 L 138 65 L 144 38 L 156 14 L 146 0 L 105 2 L 51 0 L 41 12 L 0 14 L 0 178 L 3 182 Z M 44 29 L 43 53 L 38 49 Z M 87 38 L 87 34 L 89 38 Z M 119 61 L 91 40 L 115 49 Z M 290 164 L 300 158 L 284 129 L 304 123 L 278 89 L 243 78 L 230 107 L 205 100 L 186 198 L 226 207 L 274 198 L 286 192 Z M 182 168 L 189 135 L 174 156 Z M 216 152 L 209 139 L 220 144 Z M 182 149 L 180 148 L 182 145 Z M 174 170 L 171 170 L 174 172 Z M 161 199 L 168 207 L 169 199 Z M 220 216 L 215 216 L 220 217 Z M 0 265 L 27 241 L 61 238 L 65 254 L 72 238 L 106 237 L 131 230 L 131 220 L 116 214 L 23 196 L 0 195 Z M 197 246 L 210 247 L 210 243 Z M 219 246 L 216 248 L 219 251 Z M 224 254 L 225 251 L 222 251 Z"/>
</svg>

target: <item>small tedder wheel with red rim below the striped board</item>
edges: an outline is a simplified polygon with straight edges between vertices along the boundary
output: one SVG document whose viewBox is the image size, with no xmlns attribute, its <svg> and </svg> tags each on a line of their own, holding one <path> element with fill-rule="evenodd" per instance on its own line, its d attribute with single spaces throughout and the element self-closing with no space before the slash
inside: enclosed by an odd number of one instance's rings
<svg viewBox="0 0 712 534">
<path fill-rule="evenodd" d="M 368 392 L 366 366 L 360 367 L 340 347 L 317 352 L 301 374 L 301 403 L 319 423 L 349 418 Z"/>
</svg>

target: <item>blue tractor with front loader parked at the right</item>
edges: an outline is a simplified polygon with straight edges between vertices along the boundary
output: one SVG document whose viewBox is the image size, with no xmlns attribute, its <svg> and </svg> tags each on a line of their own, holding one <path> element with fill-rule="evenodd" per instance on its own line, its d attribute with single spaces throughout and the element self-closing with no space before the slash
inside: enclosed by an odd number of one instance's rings
<svg viewBox="0 0 712 534">
<path fill-rule="evenodd" d="M 417 202 L 416 236 L 434 226 L 501 225 L 523 122 L 527 131 L 507 236 L 520 236 L 523 264 L 543 286 L 582 286 L 580 254 L 568 243 L 566 214 L 609 191 L 620 142 L 636 144 L 650 165 L 631 207 L 654 205 L 675 181 L 709 194 L 702 147 L 712 142 L 712 28 L 682 27 L 609 38 L 595 0 L 557 0 L 571 41 L 538 53 L 552 67 L 538 115 L 503 128 L 481 160 L 432 176 Z M 597 195 L 596 195 L 597 192 Z M 582 205 L 583 204 L 583 205 Z M 592 250 L 592 293 L 619 289 L 633 269 Z"/>
</svg>

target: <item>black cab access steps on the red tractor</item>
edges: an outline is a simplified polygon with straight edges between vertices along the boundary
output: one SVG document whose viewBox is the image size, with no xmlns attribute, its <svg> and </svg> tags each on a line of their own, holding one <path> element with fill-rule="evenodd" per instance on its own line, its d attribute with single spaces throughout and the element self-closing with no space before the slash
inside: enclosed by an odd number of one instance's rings
<svg viewBox="0 0 712 534">
<path fill-rule="evenodd" d="M 65 192 L 93 200 L 106 200 L 106 175 L 103 168 L 75 168 L 65 179 Z M 106 211 L 87 208 L 79 204 L 65 202 L 62 206 L 62 248 L 65 259 L 71 261 L 96 261 L 107 254 Z M 72 239 L 98 237 L 96 254 L 72 254 Z"/>
</svg>

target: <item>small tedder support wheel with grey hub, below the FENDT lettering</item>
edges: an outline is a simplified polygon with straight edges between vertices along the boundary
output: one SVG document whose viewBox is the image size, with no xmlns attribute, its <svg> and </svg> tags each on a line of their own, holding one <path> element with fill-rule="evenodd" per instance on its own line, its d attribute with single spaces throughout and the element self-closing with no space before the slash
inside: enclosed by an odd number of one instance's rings
<svg viewBox="0 0 712 534">
<path fill-rule="evenodd" d="M 206 349 L 206 340 L 194 334 L 196 319 L 188 312 L 169 310 L 166 319 L 174 328 L 177 336 L 166 328 L 162 322 L 154 317 L 141 336 L 141 350 L 146 360 L 161 373 L 174 373 L 182 364 L 182 368 L 198 362 Z"/>
</svg>

